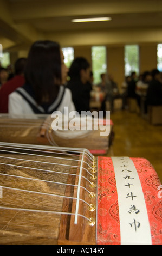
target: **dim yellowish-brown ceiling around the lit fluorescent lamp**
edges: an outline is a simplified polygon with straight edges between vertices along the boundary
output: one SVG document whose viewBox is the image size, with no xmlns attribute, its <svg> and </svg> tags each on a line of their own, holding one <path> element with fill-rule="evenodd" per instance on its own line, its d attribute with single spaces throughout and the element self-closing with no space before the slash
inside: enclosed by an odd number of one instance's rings
<svg viewBox="0 0 162 256">
<path fill-rule="evenodd" d="M 126 38 L 133 42 L 143 35 L 143 41 L 162 42 L 161 0 L 0 0 L 0 13 L 0 43 L 7 50 L 38 39 L 90 45 L 121 43 Z M 78 17 L 105 16 L 112 20 L 71 22 Z"/>
</svg>

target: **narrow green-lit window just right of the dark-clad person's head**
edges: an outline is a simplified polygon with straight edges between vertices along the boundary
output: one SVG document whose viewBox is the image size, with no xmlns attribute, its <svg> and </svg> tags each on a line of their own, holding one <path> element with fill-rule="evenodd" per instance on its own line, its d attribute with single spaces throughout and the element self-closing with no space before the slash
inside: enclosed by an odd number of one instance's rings
<svg viewBox="0 0 162 256">
<path fill-rule="evenodd" d="M 107 72 L 106 62 L 106 47 L 105 46 L 93 46 L 92 47 L 92 71 L 94 84 L 101 82 L 100 75 Z"/>
</svg>

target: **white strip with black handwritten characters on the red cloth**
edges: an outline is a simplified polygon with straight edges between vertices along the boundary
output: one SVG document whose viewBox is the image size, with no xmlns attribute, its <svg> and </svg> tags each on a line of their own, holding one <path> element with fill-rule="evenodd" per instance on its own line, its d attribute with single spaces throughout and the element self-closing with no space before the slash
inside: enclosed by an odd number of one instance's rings
<svg viewBox="0 0 162 256">
<path fill-rule="evenodd" d="M 152 245 L 141 182 L 129 157 L 111 157 L 118 192 L 121 245 Z"/>
</svg>

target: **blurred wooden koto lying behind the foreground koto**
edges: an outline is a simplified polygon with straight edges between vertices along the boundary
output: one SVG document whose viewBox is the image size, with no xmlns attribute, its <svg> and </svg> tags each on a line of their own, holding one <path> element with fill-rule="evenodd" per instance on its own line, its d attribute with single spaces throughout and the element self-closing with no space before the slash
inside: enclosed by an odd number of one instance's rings
<svg viewBox="0 0 162 256">
<path fill-rule="evenodd" d="M 112 143 L 112 121 L 109 135 L 100 136 L 103 132 L 98 130 L 56 130 L 51 127 L 54 118 L 49 115 L 31 115 L 11 118 L 9 114 L 1 114 L 0 141 L 23 144 L 54 145 L 59 147 L 87 148 L 93 154 L 106 154 Z M 108 129 L 108 128 L 107 128 Z M 106 134 L 106 133 L 105 133 Z"/>
</svg>

